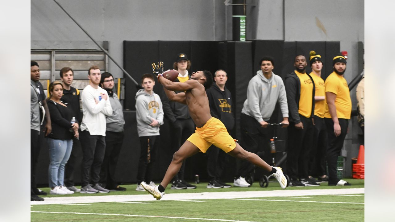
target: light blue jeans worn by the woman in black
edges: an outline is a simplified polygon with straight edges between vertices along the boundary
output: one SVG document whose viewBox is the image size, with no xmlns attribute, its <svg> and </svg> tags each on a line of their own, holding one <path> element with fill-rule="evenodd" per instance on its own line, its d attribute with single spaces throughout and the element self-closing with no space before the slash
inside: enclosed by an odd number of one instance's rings
<svg viewBox="0 0 395 222">
<path fill-rule="evenodd" d="M 64 166 L 70 157 L 73 140 L 47 138 L 49 147 L 48 181 L 49 187 L 64 184 Z"/>
</svg>

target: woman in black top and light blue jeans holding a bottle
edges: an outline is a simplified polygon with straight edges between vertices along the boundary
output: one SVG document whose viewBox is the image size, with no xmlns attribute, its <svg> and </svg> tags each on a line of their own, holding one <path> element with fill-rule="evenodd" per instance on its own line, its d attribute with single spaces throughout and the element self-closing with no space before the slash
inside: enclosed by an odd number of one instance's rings
<svg viewBox="0 0 395 222">
<path fill-rule="evenodd" d="M 54 81 L 49 85 L 48 90 L 51 96 L 47 99 L 47 104 L 52 122 L 52 132 L 47 135 L 50 194 L 73 194 L 73 191 L 64 186 L 64 166 L 70 157 L 73 137 L 79 136 L 78 123 L 71 122 L 76 115 L 67 103 L 60 101 L 63 95 L 62 83 Z"/>
</svg>

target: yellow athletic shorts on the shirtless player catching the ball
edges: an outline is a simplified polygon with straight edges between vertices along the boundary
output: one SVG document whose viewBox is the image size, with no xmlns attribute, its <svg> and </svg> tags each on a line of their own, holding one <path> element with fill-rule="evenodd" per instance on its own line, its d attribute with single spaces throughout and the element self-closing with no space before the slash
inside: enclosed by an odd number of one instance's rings
<svg viewBox="0 0 395 222">
<path fill-rule="evenodd" d="M 225 152 L 229 152 L 236 147 L 235 140 L 229 135 L 224 124 L 214 117 L 211 117 L 201 128 L 196 127 L 195 133 L 187 140 L 203 153 L 209 149 L 211 144 Z"/>
</svg>

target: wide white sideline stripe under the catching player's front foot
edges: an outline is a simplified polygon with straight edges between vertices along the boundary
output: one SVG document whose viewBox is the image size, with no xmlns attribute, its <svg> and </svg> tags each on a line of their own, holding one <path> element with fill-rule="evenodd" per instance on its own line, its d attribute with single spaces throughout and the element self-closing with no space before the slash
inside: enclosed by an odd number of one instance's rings
<svg viewBox="0 0 395 222">
<path fill-rule="evenodd" d="M 264 198 L 283 196 L 314 196 L 331 194 L 364 194 L 365 188 L 335 188 L 335 189 L 312 189 L 312 190 L 263 190 L 263 191 L 231 191 L 231 192 L 202 192 L 165 194 L 163 200 L 207 200 L 224 198 Z M 130 202 L 130 201 L 153 201 L 152 195 L 105 195 L 105 196 L 82 196 L 82 197 L 54 197 L 44 198 L 45 201 L 30 201 L 30 205 L 60 204 L 60 203 L 103 203 L 103 202 Z"/>
</svg>

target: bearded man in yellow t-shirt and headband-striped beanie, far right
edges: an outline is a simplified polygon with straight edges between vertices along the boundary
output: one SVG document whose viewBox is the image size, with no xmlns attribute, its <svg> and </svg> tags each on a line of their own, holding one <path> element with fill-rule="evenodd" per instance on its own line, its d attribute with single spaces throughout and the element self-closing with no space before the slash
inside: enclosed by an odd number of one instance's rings
<svg viewBox="0 0 395 222">
<path fill-rule="evenodd" d="M 335 56 L 333 58 L 333 72 L 325 80 L 325 96 L 328 111 L 325 112 L 325 125 L 328 133 L 328 150 L 326 159 L 328 163 L 328 185 L 351 185 L 337 177 L 337 157 L 346 138 L 348 120 L 351 116 L 350 89 L 344 79 L 346 71 L 346 58 Z"/>
</svg>

